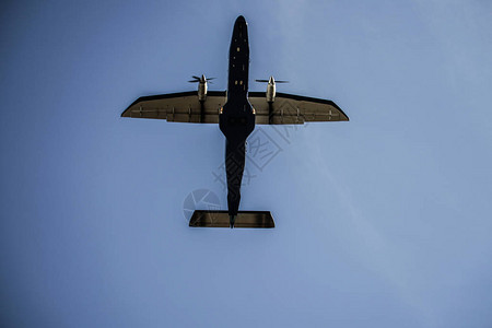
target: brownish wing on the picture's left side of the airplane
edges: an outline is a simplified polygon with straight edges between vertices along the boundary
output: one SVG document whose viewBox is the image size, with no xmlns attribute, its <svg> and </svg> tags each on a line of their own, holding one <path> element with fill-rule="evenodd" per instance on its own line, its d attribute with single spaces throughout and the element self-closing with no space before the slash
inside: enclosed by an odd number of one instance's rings
<svg viewBox="0 0 492 328">
<path fill-rule="evenodd" d="M 121 117 L 218 124 L 225 101 L 225 91 L 209 91 L 204 102 L 198 101 L 196 91 L 144 96 L 134 101 Z"/>
</svg>

